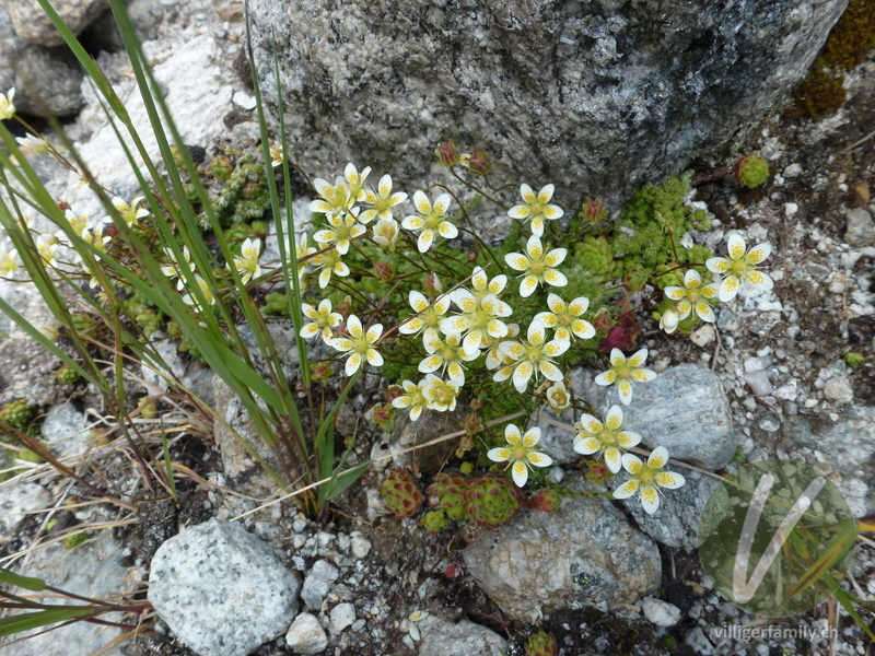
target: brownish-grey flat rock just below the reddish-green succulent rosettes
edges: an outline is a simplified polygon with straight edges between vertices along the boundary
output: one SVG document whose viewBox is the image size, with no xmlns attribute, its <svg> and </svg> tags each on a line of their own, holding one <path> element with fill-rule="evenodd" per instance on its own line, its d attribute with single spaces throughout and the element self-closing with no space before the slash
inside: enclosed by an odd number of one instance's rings
<svg viewBox="0 0 875 656">
<path fill-rule="evenodd" d="M 480 588 L 514 620 L 583 606 L 634 604 L 656 590 L 660 550 L 610 503 L 569 499 L 524 509 L 464 553 Z"/>
</svg>

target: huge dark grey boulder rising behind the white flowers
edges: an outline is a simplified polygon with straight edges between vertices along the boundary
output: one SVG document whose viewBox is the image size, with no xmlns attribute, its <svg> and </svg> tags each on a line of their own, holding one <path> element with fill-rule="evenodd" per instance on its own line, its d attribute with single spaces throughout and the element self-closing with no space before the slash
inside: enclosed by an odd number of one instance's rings
<svg viewBox="0 0 875 656">
<path fill-rule="evenodd" d="M 433 148 L 482 144 L 560 202 L 674 174 L 800 80 L 845 0 L 252 0 L 255 52 L 293 157 L 421 184 Z M 470 152 L 470 151 L 469 151 Z M 412 189 L 409 190 L 410 192 Z"/>
</svg>

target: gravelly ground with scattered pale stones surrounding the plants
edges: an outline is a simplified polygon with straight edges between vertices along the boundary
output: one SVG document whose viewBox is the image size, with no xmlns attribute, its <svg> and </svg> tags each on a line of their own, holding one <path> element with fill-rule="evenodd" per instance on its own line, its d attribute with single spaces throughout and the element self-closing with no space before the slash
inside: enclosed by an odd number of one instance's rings
<svg viewBox="0 0 875 656">
<path fill-rule="evenodd" d="M 220 139 L 252 144 L 257 128 L 241 63 L 242 5 L 131 5 L 186 143 L 208 151 Z M 137 107 L 124 54 L 101 52 L 97 60 Z M 774 290 L 721 305 L 716 329 L 704 326 L 690 337 L 668 337 L 648 319 L 641 341 L 660 376 L 637 390 L 626 425 L 662 435 L 673 456 L 709 470 L 731 472 L 739 461 L 772 457 L 803 460 L 832 472 L 862 516 L 875 513 L 875 60 L 853 71 L 848 85 L 850 99 L 838 114 L 791 120 L 779 106 L 723 152 L 695 163 L 704 175 L 749 152 L 769 161 L 774 175 L 765 188 L 700 185 L 692 202 L 711 212 L 712 229 L 692 236 L 718 251 L 725 251 L 732 231 L 748 244 L 770 242 Z M 107 145 L 93 92 L 81 85 L 78 93 L 84 108 L 69 133 L 103 184 L 131 191 L 136 180 Z M 132 115 L 141 118 L 138 112 Z M 337 169 L 343 164 L 337 162 Z M 66 172 L 39 165 L 54 194 L 89 202 L 77 197 Z M 2 282 L 0 295 L 33 320 L 45 315 L 22 285 Z M 3 331 L 0 402 L 25 398 L 49 408 L 46 442 L 83 476 L 128 499 L 163 496 L 149 492 L 120 443 L 89 440 L 103 417 L 96 397 L 80 391 L 68 398 L 52 383 L 57 363 L 8 324 Z M 282 335 L 280 327 L 276 337 Z M 849 366 L 842 359 L 848 352 L 864 362 Z M 210 372 L 182 360 L 177 366 L 202 398 L 234 415 L 234 400 Z M 160 387 L 160 379 L 142 373 L 147 389 Z M 606 397 L 592 384 L 595 373 L 575 370 L 575 389 L 593 402 L 616 401 L 616 393 Z M 382 400 L 376 388 L 362 387 L 346 403 L 340 434 Z M 767 620 L 720 596 L 696 552 L 698 515 L 713 489 L 708 477 L 689 473 L 687 485 L 669 494 L 654 517 L 631 501 L 567 501 L 557 515 L 524 509 L 509 527 L 430 536 L 382 506 L 380 481 L 386 467 L 402 464 L 396 458 L 369 470 L 317 523 L 288 500 L 264 506 L 273 490 L 246 454 L 202 418 L 183 407 L 171 410 L 168 418 L 189 425 L 171 441 L 172 458 L 192 472 L 179 479 L 176 502 L 75 505 L 84 490 L 33 464 L 20 464 L 26 471 L 0 483 L 0 565 L 93 596 L 139 589 L 142 598 L 149 582 L 158 614 L 121 644 L 112 629 L 75 624 L 4 645 L 4 653 L 517 656 L 535 625 L 556 634 L 564 656 L 872 652 L 841 609 L 836 624 L 827 605 Z M 397 422 L 388 434 L 370 421 L 361 425 L 366 430 L 351 464 L 453 430 L 444 415 Z M 556 460 L 550 480 L 583 485 L 570 434 L 544 427 L 544 448 Z M 418 456 L 423 462 L 428 457 L 440 461 L 444 455 Z M 71 526 L 88 529 L 84 543 L 67 549 L 52 541 Z M 875 595 L 871 542 L 856 550 L 849 581 L 855 594 Z M 796 634 L 722 637 L 727 625 Z M 837 626 L 831 636 L 830 625 Z"/>
</svg>

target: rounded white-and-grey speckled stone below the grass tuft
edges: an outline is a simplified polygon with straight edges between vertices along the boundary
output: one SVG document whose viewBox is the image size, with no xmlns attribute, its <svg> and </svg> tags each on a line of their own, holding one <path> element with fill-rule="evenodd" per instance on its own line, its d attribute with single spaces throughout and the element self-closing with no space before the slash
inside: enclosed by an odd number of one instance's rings
<svg viewBox="0 0 875 656">
<path fill-rule="evenodd" d="M 241 656 L 284 633 L 301 582 L 242 525 L 210 519 L 164 542 L 149 601 L 199 656 Z"/>
</svg>

